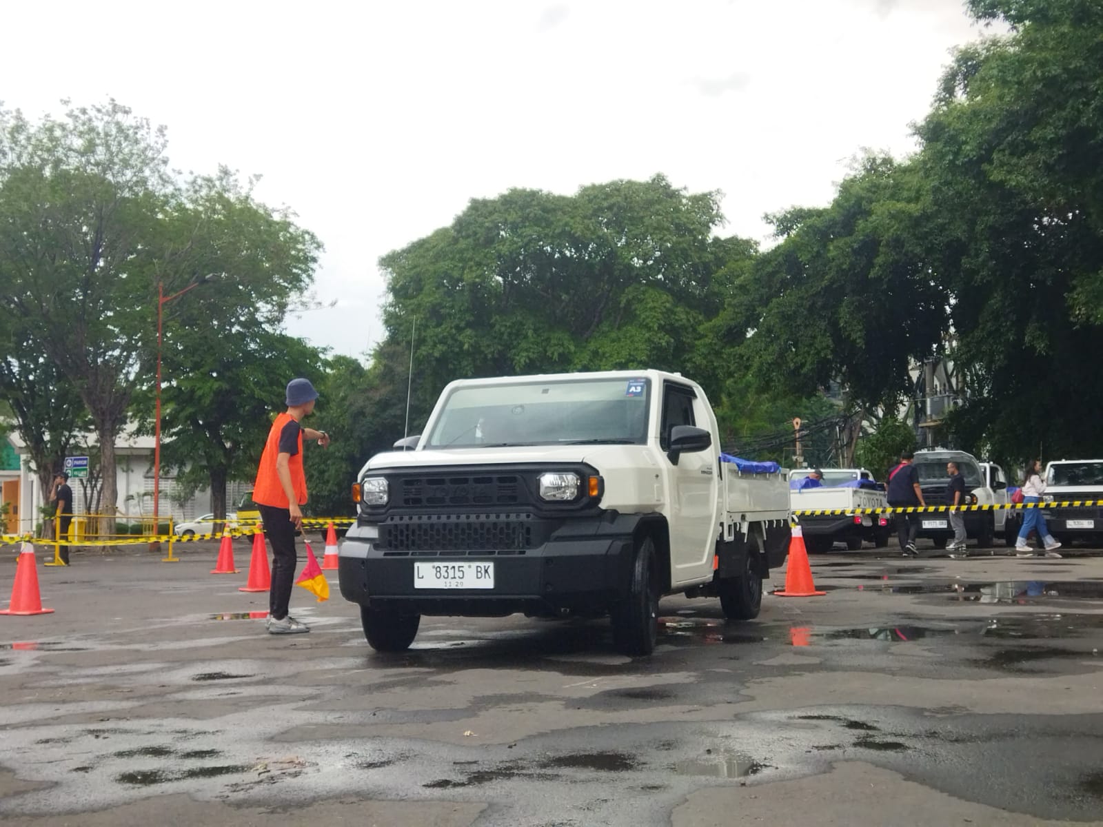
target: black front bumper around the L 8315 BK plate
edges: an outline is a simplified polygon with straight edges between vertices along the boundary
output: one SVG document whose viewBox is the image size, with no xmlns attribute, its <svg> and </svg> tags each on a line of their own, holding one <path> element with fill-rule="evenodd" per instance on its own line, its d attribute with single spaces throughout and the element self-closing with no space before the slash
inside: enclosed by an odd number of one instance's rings
<svg viewBox="0 0 1103 827">
<path fill-rule="evenodd" d="M 339 552 L 345 600 L 420 614 L 500 616 L 601 611 L 632 563 L 634 520 L 564 520 L 535 548 L 508 551 L 395 551 L 377 547 L 372 526 L 349 530 Z M 421 589 L 417 562 L 492 562 L 493 589 Z"/>
</svg>

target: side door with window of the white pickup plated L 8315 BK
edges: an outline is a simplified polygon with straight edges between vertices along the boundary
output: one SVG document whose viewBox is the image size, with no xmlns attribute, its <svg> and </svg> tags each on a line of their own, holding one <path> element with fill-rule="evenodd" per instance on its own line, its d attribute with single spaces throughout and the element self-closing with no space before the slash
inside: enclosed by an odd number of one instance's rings
<svg viewBox="0 0 1103 827">
<path fill-rule="evenodd" d="M 658 444 L 666 451 L 670 445 L 671 429 L 678 425 L 708 427 L 708 417 L 695 407 L 702 406 L 693 388 L 685 385 L 665 383 L 663 386 L 663 412 L 658 431 Z M 703 425 L 698 426 L 697 423 Z M 671 565 L 674 583 L 700 578 L 711 566 L 716 546 L 718 503 L 716 458 L 719 447 L 707 451 L 684 453 L 675 465 L 664 455 L 670 473 L 671 512 Z"/>
</svg>

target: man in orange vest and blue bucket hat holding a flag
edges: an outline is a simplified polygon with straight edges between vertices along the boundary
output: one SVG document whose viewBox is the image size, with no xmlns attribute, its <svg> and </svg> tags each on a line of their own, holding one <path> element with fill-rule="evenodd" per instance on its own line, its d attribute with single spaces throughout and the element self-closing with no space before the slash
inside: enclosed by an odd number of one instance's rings
<svg viewBox="0 0 1103 827">
<path fill-rule="evenodd" d="M 295 533 L 302 527 L 301 506 L 307 504 L 307 477 L 302 473 L 302 440 L 315 439 L 325 448 L 325 431 L 303 428 L 303 417 L 314 411 L 318 391 L 309 379 L 287 385 L 287 411 L 276 417 L 257 469 L 253 501 L 260 511 L 265 535 L 272 547 L 272 580 L 268 590 L 268 633 L 301 634 L 310 626 L 288 614 L 298 555 Z"/>
</svg>

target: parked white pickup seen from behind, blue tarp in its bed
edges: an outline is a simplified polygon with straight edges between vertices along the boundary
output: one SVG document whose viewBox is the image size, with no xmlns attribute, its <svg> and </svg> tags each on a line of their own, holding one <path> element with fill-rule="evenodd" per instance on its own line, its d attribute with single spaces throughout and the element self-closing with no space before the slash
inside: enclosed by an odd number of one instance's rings
<svg viewBox="0 0 1103 827">
<path fill-rule="evenodd" d="M 821 485 L 802 487 L 812 471 L 789 472 L 789 505 L 794 512 L 886 506 L 885 486 L 876 485 L 866 469 L 826 469 Z M 797 519 L 804 531 L 804 545 L 812 552 L 831 551 L 836 543 L 845 543 L 850 551 L 857 551 L 867 540 L 885 548 L 892 534 L 892 518 L 885 514 L 802 514 Z"/>
</svg>

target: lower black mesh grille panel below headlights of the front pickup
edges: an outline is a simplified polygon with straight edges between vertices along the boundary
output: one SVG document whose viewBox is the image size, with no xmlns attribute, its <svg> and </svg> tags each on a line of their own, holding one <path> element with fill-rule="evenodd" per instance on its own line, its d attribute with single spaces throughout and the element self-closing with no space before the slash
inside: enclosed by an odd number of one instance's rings
<svg viewBox="0 0 1103 827">
<path fill-rule="evenodd" d="M 394 516 L 379 525 L 384 551 L 521 551 L 533 546 L 529 514 Z"/>
</svg>

